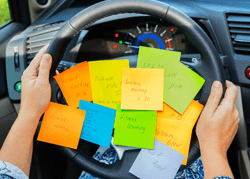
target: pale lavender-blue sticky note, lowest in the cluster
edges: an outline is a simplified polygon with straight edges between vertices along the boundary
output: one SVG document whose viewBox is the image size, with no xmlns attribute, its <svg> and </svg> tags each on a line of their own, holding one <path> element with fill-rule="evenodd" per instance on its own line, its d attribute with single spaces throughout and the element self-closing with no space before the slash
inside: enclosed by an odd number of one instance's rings
<svg viewBox="0 0 250 179">
<path fill-rule="evenodd" d="M 129 172 L 138 178 L 173 179 L 184 155 L 155 140 L 154 150 L 141 149 Z"/>
</svg>

